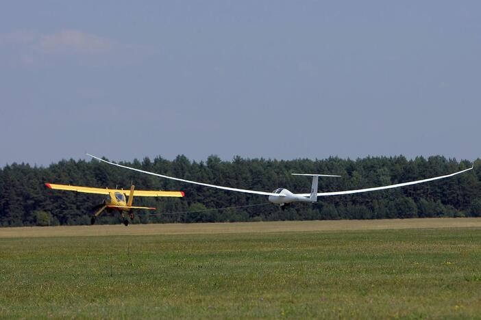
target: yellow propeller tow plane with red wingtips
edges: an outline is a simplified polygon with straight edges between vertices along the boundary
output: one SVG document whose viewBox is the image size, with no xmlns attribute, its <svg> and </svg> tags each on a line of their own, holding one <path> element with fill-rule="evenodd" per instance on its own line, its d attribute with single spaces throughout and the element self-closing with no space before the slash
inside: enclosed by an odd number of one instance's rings
<svg viewBox="0 0 481 320">
<path fill-rule="evenodd" d="M 136 197 L 184 197 L 183 191 L 147 191 L 147 190 L 135 190 L 135 186 L 132 185 L 130 190 L 124 189 L 102 189 L 93 187 L 79 187 L 77 185 L 56 185 L 54 183 L 45 183 L 49 189 L 56 190 L 67 190 L 67 191 L 77 191 L 83 192 L 85 194 L 105 194 L 107 198 L 103 200 L 101 204 L 94 206 L 95 211 L 91 224 L 95 224 L 95 219 L 104 211 L 118 211 L 123 218 L 123 224 L 125 226 L 129 225 L 129 220 L 124 216 L 124 212 L 129 213 L 130 219 L 134 219 L 134 211 L 132 209 L 147 209 L 156 210 L 156 208 L 150 208 L 148 206 L 132 206 L 134 201 L 134 196 Z M 128 200 L 125 201 L 125 196 L 128 196 Z"/>
</svg>

